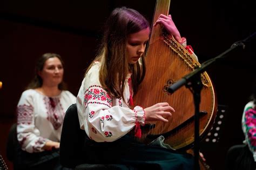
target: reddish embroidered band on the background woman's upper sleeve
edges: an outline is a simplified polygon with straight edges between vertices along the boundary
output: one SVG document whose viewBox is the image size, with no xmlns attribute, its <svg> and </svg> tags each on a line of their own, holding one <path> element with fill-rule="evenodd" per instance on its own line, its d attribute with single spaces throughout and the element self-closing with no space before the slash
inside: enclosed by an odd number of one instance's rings
<svg viewBox="0 0 256 170">
<path fill-rule="evenodd" d="M 17 107 L 17 124 L 31 124 L 33 121 L 33 106 L 19 105 Z"/>
</svg>

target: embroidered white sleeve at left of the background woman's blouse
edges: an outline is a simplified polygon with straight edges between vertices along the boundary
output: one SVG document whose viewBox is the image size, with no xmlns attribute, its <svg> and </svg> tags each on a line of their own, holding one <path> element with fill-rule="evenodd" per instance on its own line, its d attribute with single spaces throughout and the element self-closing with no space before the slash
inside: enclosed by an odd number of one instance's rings
<svg viewBox="0 0 256 170">
<path fill-rule="evenodd" d="M 42 152 L 47 139 L 39 136 L 35 127 L 32 96 L 23 92 L 17 106 L 17 138 L 26 152 Z"/>
</svg>

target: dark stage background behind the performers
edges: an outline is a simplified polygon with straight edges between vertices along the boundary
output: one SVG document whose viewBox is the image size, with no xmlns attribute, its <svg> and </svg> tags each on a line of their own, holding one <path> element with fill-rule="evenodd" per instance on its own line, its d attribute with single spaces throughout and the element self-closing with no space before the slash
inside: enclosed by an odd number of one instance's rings
<svg viewBox="0 0 256 170">
<path fill-rule="evenodd" d="M 64 80 L 76 96 L 86 66 L 95 57 L 102 26 L 112 9 L 127 6 L 151 21 L 156 1 L 18 1 L 0 2 L 0 153 L 10 126 L 16 121 L 16 105 L 33 78 L 36 59 L 45 52 L 64 58 Z M 220 55 L 256 31 L 256 1 L 172 0 L 170 13 L 181 36 L 193 46 L 199 62 Z M 228 106 L 219 142 L 201 151 L 212 169 L 224 169 L 227 149 L 241 144 L 241 115 L 252 93 L 255 74 L 255 38 L 232 51 L 208 69 L 218 104 Z"/>
</svg>

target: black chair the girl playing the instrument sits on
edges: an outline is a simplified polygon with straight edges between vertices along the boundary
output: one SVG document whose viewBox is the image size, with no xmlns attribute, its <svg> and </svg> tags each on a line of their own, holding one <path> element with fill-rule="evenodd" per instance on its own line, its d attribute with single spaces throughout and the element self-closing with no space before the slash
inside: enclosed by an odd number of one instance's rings
<svg viewBox="0 0 256 170">
<path fill-rule="evenodd" d="M 80 129 L 77 106 L 72 104 L 65 113 L 60 137 L 59 160 L 64 167 L 75 169 L 129 169 L 119 164 L 87 164 L 83 146 L 86 133 Z"/>
</svg>

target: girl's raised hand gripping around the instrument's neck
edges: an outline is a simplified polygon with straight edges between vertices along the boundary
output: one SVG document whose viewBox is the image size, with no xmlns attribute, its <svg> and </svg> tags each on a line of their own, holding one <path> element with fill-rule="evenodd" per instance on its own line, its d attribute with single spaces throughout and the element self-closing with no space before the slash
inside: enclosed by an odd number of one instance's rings
<svg viewBox="0 0 256 170">
<path fill-rule="evenodd" d="M 172 21 L 172 16 L 171 15 L 163 15 L 160 14 L 158 17 L 156 23 L 154 23 L 154 26 L 157 24 L 161 24 L 164 26 L 164 28 L 172 35 L 179 43 L 182 42 L 179 30 L 177 29 L 176 25 Z"/>
</svg>

